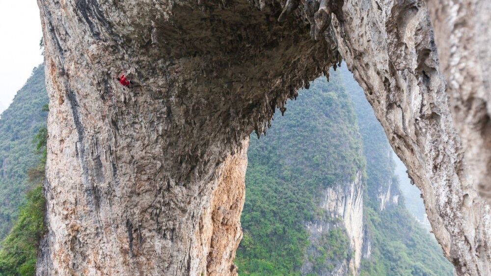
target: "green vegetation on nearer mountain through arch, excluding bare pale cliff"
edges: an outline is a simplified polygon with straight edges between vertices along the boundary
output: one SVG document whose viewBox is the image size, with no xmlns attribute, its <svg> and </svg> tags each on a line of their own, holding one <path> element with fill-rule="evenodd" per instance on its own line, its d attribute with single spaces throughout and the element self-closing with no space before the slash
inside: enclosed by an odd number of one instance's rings
<svg viewBox="0 0 491 276">
<path fill-rule="evenodd" d="M 322 215 L 316 193 L 363 169 L 355 113 L 338 79 L 318 79 L 275 117 L 266 137 L 251 136 L 239 275 L 300 275 L 309 257 L 305 223 Z M 320 240 L 315 266 L 346 259 L 344 230 Z"/>
</svg>

